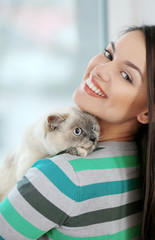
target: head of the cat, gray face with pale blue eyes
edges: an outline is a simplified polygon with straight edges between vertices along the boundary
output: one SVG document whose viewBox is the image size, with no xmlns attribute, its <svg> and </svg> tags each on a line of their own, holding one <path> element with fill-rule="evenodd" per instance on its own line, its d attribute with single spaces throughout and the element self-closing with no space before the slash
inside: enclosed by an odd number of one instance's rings
<svg viewBox="0 0 155 240">
<path fill-rule="evenodd" d="M 66 113 L 47 118 L 46 142 L 48 149 L 54 144 L 58 152 L 71 147 L 96 147 L 100 127 L 97 119 L 79 108 L 70 107 Z"/>
</svg>

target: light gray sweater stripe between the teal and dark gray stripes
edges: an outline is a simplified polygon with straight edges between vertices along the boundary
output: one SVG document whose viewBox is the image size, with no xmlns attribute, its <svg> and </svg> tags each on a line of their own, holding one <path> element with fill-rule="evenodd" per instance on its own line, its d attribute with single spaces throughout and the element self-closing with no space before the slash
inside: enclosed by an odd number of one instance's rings
<svg viewBox="0 0 155 240">
<path fill-rule="evenodd" d="M 138 201 L 142 198 L 141 190 L 138 189 L 122 194 L 101 196 L 76 203 L 59 191 L 59 189 L 57 189 L 55 185 L 37 168 L 30 169 L 26 176 L 45 198 L 69 216 L 77 216 L 88 211 L 91 212 L 118 207 L 130 202 Z"/>
</svg>

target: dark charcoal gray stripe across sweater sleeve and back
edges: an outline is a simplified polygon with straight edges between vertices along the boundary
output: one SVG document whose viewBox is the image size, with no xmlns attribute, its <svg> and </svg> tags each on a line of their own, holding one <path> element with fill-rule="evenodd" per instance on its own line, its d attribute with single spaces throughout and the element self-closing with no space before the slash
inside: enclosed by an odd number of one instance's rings
<svg viewBox="0 0 155 240">
<path fill-rule="evenodd" d="M 114 221 L 141 211 L 141 202 L 138 201 L 117 208 L 94 211 L 68 218 L 66 213 L 48 201 L 25 176 L 17 183 L 17 188 L 33 208 L 58 225 L 62 225 L 68 219 L 65 224 L 66 226 L 86 226 L 100 222 Z M 92 193 L 90 192 L 90 194 Z"/>
</svg>

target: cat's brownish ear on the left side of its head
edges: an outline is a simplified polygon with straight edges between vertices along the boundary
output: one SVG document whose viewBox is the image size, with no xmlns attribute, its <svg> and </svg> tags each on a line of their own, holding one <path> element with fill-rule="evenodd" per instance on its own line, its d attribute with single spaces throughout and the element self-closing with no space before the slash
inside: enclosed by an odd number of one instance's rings
<svg viewBox="0 0 155 240">
<path fill-rule="evenodd" d="M 67 114 L 63 115 L 50 115 L 47 117 L 48 127 L 50 130 L 55 130 L 63 121 L 68 117 Z"/>
</svg>

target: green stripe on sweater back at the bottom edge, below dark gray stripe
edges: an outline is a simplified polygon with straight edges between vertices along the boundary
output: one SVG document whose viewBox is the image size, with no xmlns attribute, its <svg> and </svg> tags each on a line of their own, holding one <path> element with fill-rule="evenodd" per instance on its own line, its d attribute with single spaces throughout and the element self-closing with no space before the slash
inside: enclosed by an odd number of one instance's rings
<svg viewBox="0 0 155 240">
<path fill-rule="evenodd" d="M 140 236 L 141 226 L 134 226 L 132 228 L 128 228 L 121 232 L 115 234 L 108 234 L 102 236 L 95 237 L 72 237 L 67 236 L 63 233 L 60 233 L 57 229 L 53 229 L 48 232 L 47 235 L 50 239 L 54 240 L 131 240 L 132 238 L 136 238 Z"/>
</svg>

